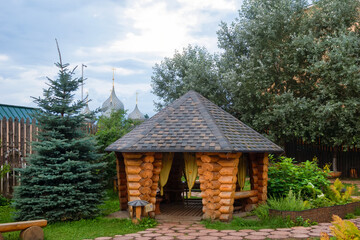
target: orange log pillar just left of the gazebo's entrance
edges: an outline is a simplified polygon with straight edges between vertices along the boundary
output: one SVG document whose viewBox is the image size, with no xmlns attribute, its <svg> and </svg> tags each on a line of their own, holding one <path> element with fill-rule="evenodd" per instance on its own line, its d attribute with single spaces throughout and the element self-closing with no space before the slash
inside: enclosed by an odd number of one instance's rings
<svg viewBox="0 0 360 240">
<path fill-rule="evenodd" d="M 123 153 L 128 201 L 145 200 L 155 207 L 162 154 Z M 132 209 L 129 208 L 130 215 Z"/>
</svg>

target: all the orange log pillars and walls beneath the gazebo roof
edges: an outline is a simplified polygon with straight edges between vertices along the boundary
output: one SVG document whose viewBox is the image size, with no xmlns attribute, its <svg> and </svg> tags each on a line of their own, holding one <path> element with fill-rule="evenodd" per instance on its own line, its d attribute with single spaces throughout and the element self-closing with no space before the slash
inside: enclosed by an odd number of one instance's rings
<svg viewBox="0 0 360 240">
<path fill-rule="evenodd" d="M 267 196 L 267 153 L 249 153 L 250 191 L 236 192 L 242 153 L 196 153 L 204 219 L 232 219 L 235 199 L 245 199 L 251 210 Z M 146 200 L 155 206 L 162 153 L 117 153 L 119 201 Z M 130 213 L 132 209 L 129 209 Z"/>
</svg>

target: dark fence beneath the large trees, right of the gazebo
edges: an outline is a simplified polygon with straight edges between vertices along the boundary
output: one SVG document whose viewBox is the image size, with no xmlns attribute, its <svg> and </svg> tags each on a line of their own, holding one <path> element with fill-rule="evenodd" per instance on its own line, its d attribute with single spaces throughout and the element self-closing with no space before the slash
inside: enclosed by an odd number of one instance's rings
<svg viewBox="0 0 360 240">
<path fill-rule="evenodd" d="M 301 140 L 295 140 L 285 144 L 286 156 L 295 158 L 297 162 L 311 160 L 313 157 L 318 158 L 320 167 L 326 163 L 332 163 L 334 149 L 332 147 L 318 143 L 308 144 Z M 337 152 L 337 169 L 342 172 L 341 177 L 353 177 L 351 171 L 357 173 L 360 177 L 360 149 L 358 148 L 341 148 Z M 351 170 L 355 169 L 355 170 Z"/>
</svg>

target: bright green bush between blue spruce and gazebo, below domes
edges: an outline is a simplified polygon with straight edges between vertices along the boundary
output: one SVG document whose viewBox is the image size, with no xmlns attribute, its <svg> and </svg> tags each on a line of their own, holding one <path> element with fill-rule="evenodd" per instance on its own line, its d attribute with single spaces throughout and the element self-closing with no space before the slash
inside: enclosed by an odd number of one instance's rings
<svg viewBox="0 0 360 240">
<path fill-rule="evenodd" d="M 96 139 L 99 151 L 103 153 L 101 162 L 106 163 L 104 179 L 109 186 L 113 177 L 116 176 L 116 157 L 114 152 L 105 152 L 105 148 L 110 144 L 130 132 L 131 129 L 139 123 L 134 123 L 126 118 L 126 112 L 123 110 L 114 111 L 110 117 L 101 116 L 98 120 L 98 131 Z"/>
</svg>

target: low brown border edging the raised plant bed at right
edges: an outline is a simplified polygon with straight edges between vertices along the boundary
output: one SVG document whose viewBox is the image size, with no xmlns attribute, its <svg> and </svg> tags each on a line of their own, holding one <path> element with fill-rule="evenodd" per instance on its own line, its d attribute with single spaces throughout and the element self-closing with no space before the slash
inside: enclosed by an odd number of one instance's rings
<svg viewBox="0 0 360 240">
<path fill-rule="evenodd" d="M 302 217 L 304 220 L 309 219 L 311 222 L 331 222 L 333 215 L 338 215 L 344 218 L 346 214 L 355 211 L 355 208 L 360 208 L 360 202 L 348 203 L 345 205 L 335 205 L 331 207 L 313 208 L 303 211 L 279 211 L 269 209 L 269 215 L 281 216 L 283 218 L 290 217 L 291 220 L 295 221 L 296 218 Z"/>
</svg>

